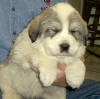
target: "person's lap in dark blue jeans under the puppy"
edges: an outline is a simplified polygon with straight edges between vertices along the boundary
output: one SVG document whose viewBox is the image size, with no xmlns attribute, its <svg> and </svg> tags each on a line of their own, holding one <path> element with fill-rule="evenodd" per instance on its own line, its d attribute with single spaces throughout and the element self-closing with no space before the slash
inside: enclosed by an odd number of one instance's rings
<svg viewBox="0 0 100 99">
<path fill-rule="evenodd" d="M 100 81 L 85 80 L 78 89 L 66 88 L 66 93 L 67 99 L 100 99 Z M 2 99 L 1 92 L 0 99 Z"/>
</svg>

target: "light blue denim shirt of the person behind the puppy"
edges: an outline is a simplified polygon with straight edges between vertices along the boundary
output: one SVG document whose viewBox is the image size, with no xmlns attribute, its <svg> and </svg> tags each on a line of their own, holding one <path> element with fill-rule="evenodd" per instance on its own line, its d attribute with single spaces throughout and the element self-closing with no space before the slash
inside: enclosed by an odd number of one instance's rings
<svg viewBox="0 0 100 99">
<path fill-rule="evenodd" d="M 51 0 L 50 5 L 67 0 Z M 13 40 L 38 15 L 44 0 L 0 0 L 0 62 L 10 51 Z"/>
</svg>

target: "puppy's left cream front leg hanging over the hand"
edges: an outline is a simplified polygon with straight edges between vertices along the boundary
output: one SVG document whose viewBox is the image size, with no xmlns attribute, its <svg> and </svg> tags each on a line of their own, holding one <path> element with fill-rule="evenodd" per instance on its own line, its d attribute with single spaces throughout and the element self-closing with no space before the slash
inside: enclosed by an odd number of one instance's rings
<svg viewBox="0 0 100 99">
<path fill-rule="evenodd" d="M 40 80 L 44 86 L 50 86 L 57 75 L 57 64 L 50 61 L 42 61 L 39 67 L 40 71 Z"/>
</svg>

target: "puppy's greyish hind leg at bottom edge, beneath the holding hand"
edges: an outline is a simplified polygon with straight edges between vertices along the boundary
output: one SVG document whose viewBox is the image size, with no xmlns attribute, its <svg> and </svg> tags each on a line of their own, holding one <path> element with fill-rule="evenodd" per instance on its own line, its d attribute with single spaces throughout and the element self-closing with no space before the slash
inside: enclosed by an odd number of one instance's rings
<svg viewBox="0 0 100 99">
<path fill-rule="evenodd" d="M 45 89 L 44 99 L 66 99 L 66 89 L 63 87 L 50 86 Z"/>
</svg>

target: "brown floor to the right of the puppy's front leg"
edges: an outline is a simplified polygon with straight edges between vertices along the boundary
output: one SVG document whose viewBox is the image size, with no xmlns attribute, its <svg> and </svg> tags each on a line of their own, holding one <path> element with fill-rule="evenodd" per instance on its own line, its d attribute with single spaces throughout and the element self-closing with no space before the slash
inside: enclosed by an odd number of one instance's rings
<svg viewBox="0 0 100 99">
<path fill-rule="evenodd" d="M 100 55 L 100 47 L 88 47 L 88 49 Z M 85 64 L 86 78 L 100 81 L 100 58 L 90 54 L 89 52 L 86 52 Z"/>
</svg>

